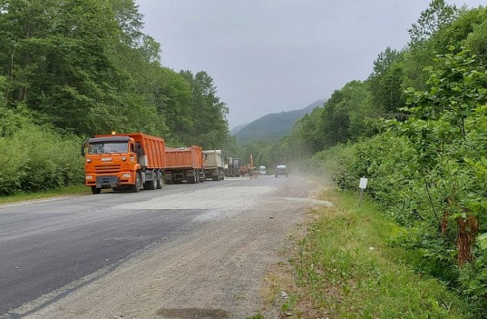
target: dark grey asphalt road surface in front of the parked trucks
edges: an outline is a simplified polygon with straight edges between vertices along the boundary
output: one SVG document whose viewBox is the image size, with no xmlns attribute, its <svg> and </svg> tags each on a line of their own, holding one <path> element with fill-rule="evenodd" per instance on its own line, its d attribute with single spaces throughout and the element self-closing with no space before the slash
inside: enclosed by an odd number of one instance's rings
<svg viewBox="0 0 487 319">
<path fill-rule="evenodd" d="M 67 284 L 72 283 L 71 291 L 88 284 L 147 245 L 173 240 L 198 227 L 204 219 L 193 221 L 207 213 L 205 209 L 122 209 L 120 205 L 134 206 L 155 197 L 215 186 L 231 189 L 246 182 L 225 179 L 0 207 L 0 317 L 15 318 L 9 314 L 11 309 Z M 253 182 L 266 186 L 280 179 Z M 77 282 L 90 274 L 90 280 Z"/>
</svg>

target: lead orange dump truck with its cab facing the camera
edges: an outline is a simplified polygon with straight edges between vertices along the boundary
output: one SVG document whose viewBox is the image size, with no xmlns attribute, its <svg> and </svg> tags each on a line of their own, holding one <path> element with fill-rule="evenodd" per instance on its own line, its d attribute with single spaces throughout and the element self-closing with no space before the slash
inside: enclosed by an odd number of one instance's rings
<svg viewBox="0 0 487 319">
<path fill-rule="evenodd" d="M 166 167 L 163 138 L 143 133 L 99 135 L 83 143 L 85 185 L 93 194 L 102 188 L 138 192 L 162 188 Z"/>
</svg>

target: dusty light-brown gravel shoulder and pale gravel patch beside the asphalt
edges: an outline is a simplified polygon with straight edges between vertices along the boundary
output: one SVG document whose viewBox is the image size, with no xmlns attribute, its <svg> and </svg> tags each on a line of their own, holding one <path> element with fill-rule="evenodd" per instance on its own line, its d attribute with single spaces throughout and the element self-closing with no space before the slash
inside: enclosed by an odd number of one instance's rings
<svg viewBox="0 0 487 319">
<path fill-rule="evenodd" d="M 310 199 L 318 188 L 312 181 L 272 180 L 261 179 L 258 187 L 258 179 L 248 181 L 237 196 L 211 204 L 208 194 L 198 193 L 209 190 L 147 202 L 154 209 L 170 201 L 189 208 L 206 203 L 211 209 L 195 220 L 201 225 L 194 231 L 152 245 L 38 311 L 31 312 L 34 302 L 17 313 L 26 318 L 245 318 L 263 311 L 266 318 L 278 318 L 265 310 L 264 277 L 285 258 L 278 253 L 299 231 L 306 209 L 320 203 Z"/>
</svg>

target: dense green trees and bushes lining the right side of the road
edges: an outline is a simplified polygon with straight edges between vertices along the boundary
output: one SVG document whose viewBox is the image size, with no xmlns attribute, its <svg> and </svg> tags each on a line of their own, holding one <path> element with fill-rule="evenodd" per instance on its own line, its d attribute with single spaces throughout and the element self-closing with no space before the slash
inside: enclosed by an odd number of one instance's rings
<svg viewBox="0 0 487 319">
<path fill-rule="evenodd" d="M 335 90 L 275 143 L 253 143 L 262 161 L 296 161 L 367 194 L 408 229 L 394 238 L 487 311 L 487 9 L 433 0 L 401 50 L 378 54 L 365 81 Z M 447 305 L 444 305 L 447 307 Z"/>
</svg>

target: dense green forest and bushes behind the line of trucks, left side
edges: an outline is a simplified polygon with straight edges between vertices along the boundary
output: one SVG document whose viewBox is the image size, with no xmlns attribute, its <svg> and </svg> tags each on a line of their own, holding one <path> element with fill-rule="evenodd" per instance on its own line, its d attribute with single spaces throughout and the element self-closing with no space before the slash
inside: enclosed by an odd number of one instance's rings
<svg viewBox="0 0 487 319">
<path fill-rule="evenodd" d="M 95 134 L 233 142 L 211 76 L 161 65 L 134 0 L 1 0 L 0 43 L 0 195 L 80 183 Z"/>
</svg>

